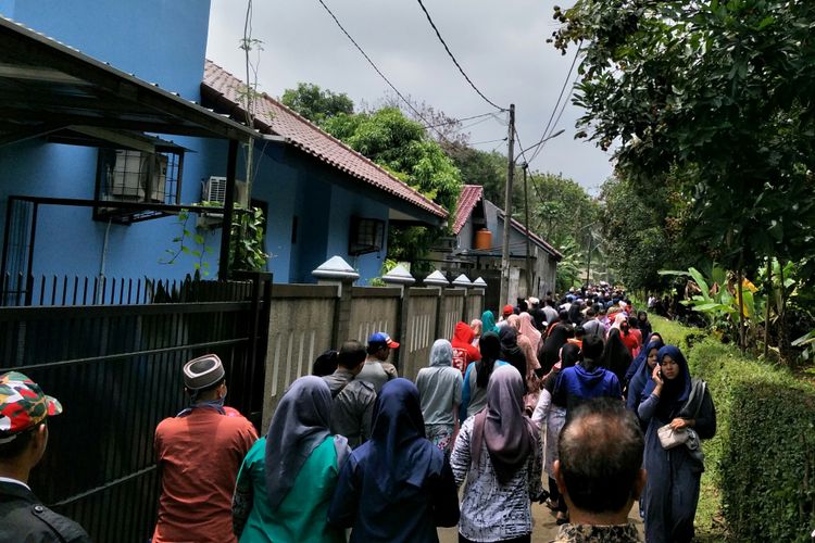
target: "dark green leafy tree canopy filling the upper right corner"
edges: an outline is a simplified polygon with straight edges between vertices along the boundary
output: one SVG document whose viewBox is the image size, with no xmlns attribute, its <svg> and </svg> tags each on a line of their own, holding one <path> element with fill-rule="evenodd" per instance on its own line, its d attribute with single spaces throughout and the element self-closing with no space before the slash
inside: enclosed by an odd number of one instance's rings
<svg viewBox="0 0 815 543">
<path fill-rule="evenodd" d="M 637 191 L 672 184 L 689 240 L 730 268 L 815 240 L 815 2 L 578 0 L 579 136 Z"/>
</svg>

